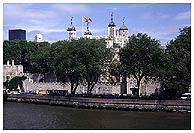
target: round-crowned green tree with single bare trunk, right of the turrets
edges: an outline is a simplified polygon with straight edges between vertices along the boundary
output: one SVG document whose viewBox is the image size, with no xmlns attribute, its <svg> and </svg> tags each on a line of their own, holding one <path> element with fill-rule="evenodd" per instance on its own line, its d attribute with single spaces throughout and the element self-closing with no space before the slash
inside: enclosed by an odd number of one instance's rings
<svg viewBox="0 0 194 133">
<path fill-rule="evenodd" d="M 120 49 L 122 76 L 133 77 L 137 81 L 137 95 L 143 77 L 156 77 L 156 71 L 161 67 L 163 52 L 157 40 L 147 34 L 138 33 L 129 37 L 129 43 Z"/>
</svg>

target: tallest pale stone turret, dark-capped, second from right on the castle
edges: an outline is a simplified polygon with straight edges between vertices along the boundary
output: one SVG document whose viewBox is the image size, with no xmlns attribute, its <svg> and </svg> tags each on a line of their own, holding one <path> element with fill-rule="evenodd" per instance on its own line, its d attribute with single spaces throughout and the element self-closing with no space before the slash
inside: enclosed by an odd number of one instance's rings
<svg viewBox="0 0 194 133">
<path fill-rule="evenodd" d="M 111 13 L 111 22 L 108 24 L 108 37 L 113 40 L 116 37 L 116 25 L 113 22 L 113 12 Z"/>
</svg>

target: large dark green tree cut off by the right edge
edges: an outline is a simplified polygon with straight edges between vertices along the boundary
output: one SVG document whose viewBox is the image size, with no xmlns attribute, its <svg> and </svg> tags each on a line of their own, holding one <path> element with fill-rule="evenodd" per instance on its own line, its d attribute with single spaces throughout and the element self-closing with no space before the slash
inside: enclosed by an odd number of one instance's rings
<svg viewBox="0 0 194 133">
<path fill-rule="evenodd" d="M 191 26 L 180 29 L 180 34 L 169 42 L 167 56 L 167 91 L 178 95 L 188 92 L 191 85 Z"/>
</svg>

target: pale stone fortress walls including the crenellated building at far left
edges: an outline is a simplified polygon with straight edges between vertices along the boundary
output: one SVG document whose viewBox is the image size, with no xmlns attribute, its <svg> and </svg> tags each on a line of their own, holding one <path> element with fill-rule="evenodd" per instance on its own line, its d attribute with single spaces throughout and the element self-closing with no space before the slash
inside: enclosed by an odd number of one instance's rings
<svg viewBox="0 0 194 133">
<path fill-rule="evenodd" d="M 63 84 L 57 82 L 57 77 L 55 74 L 47 74 L 45 76 L 45 82 L 40 82 L 43 79 L 41 74 L 30 74 L 23 73 L 22 65 L 12 65 L 9 64 L 9 61 L 6 65 L 3 65 L 3 81 L 11 80 L 15 76 L 26 76 L 27 79 L 23 81 L 24 92 L 36 92 L 38 93 L 41 90 L 67 90 L 68 93 L 71 93 L 70 83 Z M 127 91 L 126 94 L 133 94 L 131 88 L 137 88 L 136 80 L 131 77 L 127 78 Z M 149 96 L 156 93 L 161 88 L 159 81 L 149 80 L 146 81 L 143 79 L 140 83 L 139 95 Z M 87 87 L 84 85 L 79 85 L 76 94 L 85 94 L 87 92 Z M 95 85 L 92 90 L 93 94 L 121 94 L 121 82 L 116 85 L 112 85 L 107 82 L 106 79 L 101 78 L 101 80 Z"/>
</svg>

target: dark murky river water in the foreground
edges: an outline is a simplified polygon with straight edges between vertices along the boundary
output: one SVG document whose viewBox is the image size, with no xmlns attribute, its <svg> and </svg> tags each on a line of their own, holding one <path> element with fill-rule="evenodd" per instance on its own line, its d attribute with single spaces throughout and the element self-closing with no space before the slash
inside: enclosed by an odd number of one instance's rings
<svg viewBox="0 0 194 133">
<path fill-rule="evenodd" d="M 3 129 L 191 129 L 191 114 L 5 102 Z"/>
</svg>

